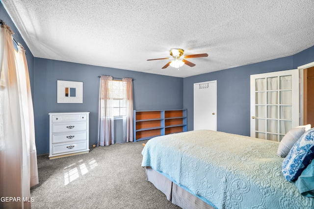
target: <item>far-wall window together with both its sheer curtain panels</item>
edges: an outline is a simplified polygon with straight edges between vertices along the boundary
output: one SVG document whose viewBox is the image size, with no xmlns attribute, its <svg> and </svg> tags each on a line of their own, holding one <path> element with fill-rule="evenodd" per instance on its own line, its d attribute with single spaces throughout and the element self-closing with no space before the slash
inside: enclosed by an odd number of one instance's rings
<svg viewBox="0 0 314 209">
<path fill-rule="evenodd" d="M 113 80 L 101 75 L 99 87 L 99 135 L 98 143 L 108 146 L 114 143 L 114 118 L 121 117 L 123 140 L 133 141 L 133 87 L 132 78 Z"/>
</svg>

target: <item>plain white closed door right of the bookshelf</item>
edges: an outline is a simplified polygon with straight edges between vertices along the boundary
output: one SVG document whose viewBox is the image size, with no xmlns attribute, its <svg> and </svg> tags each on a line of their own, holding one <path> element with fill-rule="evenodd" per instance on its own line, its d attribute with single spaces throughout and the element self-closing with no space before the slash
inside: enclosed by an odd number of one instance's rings
<svg viewBox="0 0 314 209">
<path fill-rule="evenodd" d="M 194 130 L 217 130 L 217 81 L 194 84 Z"/>
</svg>

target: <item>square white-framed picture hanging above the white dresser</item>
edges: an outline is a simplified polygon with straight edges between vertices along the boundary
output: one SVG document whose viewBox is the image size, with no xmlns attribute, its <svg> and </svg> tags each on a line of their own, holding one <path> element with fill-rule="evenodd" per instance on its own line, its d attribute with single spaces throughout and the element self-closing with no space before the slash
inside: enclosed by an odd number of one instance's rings
<svg viewBox="0 0 314 209">
<path fill-rule="evenodd" d="M 83 82 L 57 80 L 57 103 L 83 103 Z"/>
</svg>

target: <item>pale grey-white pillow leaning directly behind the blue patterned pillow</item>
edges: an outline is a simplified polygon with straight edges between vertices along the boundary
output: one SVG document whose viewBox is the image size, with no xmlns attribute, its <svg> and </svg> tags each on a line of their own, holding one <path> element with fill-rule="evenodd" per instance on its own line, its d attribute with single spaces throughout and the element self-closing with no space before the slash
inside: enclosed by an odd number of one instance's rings
<svg viewBox="0 0 314 209">
<path fill-rule="evenodd" d="M 284 138 L 280 141 L 277 155 L 282 158 L 286 158 L 288 153 L 290 152 L 292 146 L 295 142 L 302 137 L 302 135 L 311 129 L 311 124 L 304 125 L 304 126 L 297 126 L 284 136 Z"/>
</svg>

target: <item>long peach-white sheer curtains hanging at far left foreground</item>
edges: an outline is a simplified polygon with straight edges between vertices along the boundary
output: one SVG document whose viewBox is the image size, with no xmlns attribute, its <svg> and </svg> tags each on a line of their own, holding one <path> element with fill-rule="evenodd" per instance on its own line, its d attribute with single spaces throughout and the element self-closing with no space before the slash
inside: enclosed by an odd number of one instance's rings
<svg viewBox="0 0 314 209">
<path fill-rule="evenodd" d="M 0 27 L 0 208 L 30 209 L 38 184 L 34 116 L 25 50 L 15 52 L 12 30 Z"/>
</svg>

